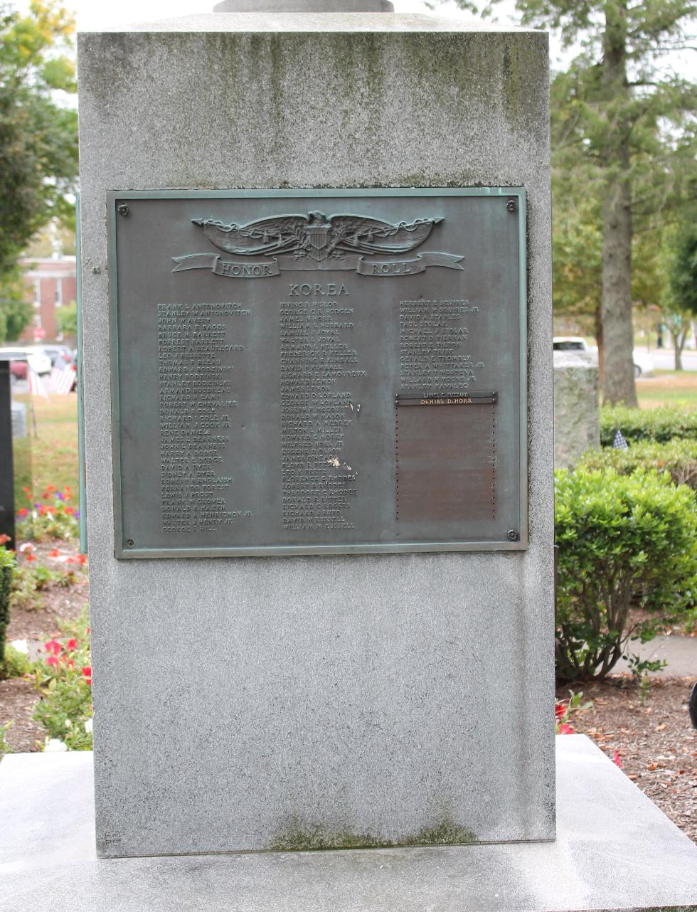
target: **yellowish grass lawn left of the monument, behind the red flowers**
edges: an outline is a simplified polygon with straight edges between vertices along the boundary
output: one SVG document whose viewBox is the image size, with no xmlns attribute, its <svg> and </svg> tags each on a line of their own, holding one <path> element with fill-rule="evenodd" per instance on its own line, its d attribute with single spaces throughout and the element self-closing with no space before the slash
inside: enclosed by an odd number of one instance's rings
<svg viewBox="0 0 697 912">
<path fill-rule="evenodd" d="M 62 491 L 67 484 L 78 499 L 78 396 L 51 395 L 49 399 L 33 397 L 36 415 L 36 437 L 29 411 L 28 393 L 13 394 L 27 407 L 26 438 L 15 440 L 16 508 L 26 503 L 24 488 L 35 494 L 53 484 Z"/>
</svg>

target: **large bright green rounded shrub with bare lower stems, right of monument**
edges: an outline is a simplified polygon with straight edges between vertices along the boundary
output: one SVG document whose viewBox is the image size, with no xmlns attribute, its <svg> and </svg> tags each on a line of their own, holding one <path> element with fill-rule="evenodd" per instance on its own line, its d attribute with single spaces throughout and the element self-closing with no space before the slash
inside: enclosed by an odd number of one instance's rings
<svg viewBox="0 0 697 912">
<path fill-rule="evenodd" d="M 556 661 L 560 679 L 603 678 L 619 658 L 694 605 L 697 505 L 663 473 L 556 473 Z M 629 625 L 629 606 L 661 611 Z"/>
</svg>

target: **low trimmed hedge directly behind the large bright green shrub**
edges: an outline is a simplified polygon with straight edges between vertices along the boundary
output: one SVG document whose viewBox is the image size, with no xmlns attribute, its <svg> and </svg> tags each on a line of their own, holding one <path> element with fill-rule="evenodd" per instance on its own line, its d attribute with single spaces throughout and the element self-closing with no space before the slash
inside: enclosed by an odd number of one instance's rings
<svg viewBox="0 0 697 912">
<path fill-rule="evenodd" d="M 667 443 L 637 440 L 628 450 L 588 450 L 577 467 L 596 471 L 615 469 L 620 475 L 629 475 L 637 469 L 655 469 L 670 472 L 675 484 L 697 489 L 697 440 L 675 438 Z"/>
</svg>

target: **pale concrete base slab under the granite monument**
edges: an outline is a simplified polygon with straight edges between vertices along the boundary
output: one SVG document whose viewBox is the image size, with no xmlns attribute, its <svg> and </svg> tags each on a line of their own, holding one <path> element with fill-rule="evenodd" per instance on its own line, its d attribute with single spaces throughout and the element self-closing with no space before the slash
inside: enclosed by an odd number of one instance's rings
<svg viewBox="0 0 697 912">
<path fill-rule="evenodd" d="M 697 846 L 582 735 L 557 738 L 557 842 L 98 859 L 92 758 L 0 764 L 4 912 L 697 910 Z"/>
</svg>

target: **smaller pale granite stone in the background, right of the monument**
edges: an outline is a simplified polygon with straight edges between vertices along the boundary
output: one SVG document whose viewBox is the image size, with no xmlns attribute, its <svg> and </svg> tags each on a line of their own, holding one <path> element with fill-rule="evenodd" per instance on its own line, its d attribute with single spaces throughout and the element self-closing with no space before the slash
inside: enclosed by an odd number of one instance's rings
<svg viewBox="0 0 697 912">
<path fill-rule="evenodd" d="M 555 465 L 573 468 L 581 453 L 600 446 L 598 365 L 576 351 L 554 352 Z"/>
</svg>

